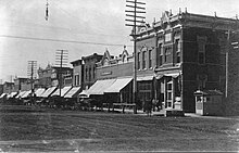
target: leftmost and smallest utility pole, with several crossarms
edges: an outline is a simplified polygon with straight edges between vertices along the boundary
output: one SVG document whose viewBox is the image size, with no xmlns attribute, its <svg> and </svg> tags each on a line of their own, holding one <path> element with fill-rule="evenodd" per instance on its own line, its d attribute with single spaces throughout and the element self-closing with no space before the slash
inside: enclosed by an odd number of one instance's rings
<svg viewBox="0 0 239 153">
<path fill-rule="evenodd" d="M 27 75 L 30 77 L 30 102 L 33 102 L 34 95 L 34 74 L 37 69 L 37 61 L 28 61 Z"/>
</svg>

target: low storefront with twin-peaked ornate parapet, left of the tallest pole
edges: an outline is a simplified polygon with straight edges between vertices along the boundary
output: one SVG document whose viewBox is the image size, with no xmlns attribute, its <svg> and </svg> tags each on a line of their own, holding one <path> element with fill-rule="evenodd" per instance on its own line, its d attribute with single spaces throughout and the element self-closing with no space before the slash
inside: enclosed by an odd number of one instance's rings
<svg viewBox="0 0 239 153">
<path fill-rule="evenodd" d="M 102 85 L 108 87 L 102 92 L 108 102 L 133 103 L 133 55 L 124 48 L 115 58 L 106 50 L 97 63 L 97 81 L 113 80 L 109 81 L 111 85 Z"/>
</svg>

